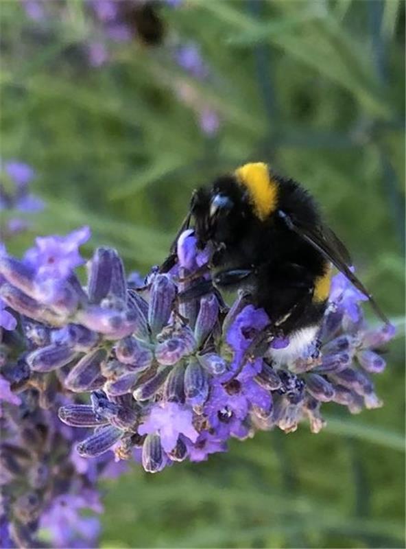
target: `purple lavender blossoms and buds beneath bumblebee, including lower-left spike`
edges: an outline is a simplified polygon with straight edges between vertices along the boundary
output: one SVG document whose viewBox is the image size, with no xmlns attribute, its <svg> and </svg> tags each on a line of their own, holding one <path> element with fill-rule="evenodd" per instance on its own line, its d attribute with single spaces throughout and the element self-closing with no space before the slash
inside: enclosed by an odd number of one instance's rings
<svg viewBox="0 0 406 549">
<path fill-rule="evenodd" d="M 206 460 L 256 430 L 292 432 L 308 419 L 319 432 L 324 402 L 352 413 L 381 406 L 371 374 L 385 368 L 378 349 L 394 327 L 370 329 L 365 297 L 341 274 L 320 354 L 309 348 L 273 364 L 267 353 L 247 354 L 268 323 L 249 296 L 230 309 L 213 292 L 178 299 L 207 261 L 191 231 L 178 242 L 178 264 L 153 269 L 141 286 L 111 248 L 95 250 L 82 285 L 78 247 L 89 235 L 84 227 L 38 237 L 22 260 L 0 259 L 5 546 L 32 546 L 42 527 L 53 546 L 94 546 L 97 521 L 80 510 L 100 511 L 97 478 L 117 473 L 121 460 L 155 473 Z"/>
</svg>

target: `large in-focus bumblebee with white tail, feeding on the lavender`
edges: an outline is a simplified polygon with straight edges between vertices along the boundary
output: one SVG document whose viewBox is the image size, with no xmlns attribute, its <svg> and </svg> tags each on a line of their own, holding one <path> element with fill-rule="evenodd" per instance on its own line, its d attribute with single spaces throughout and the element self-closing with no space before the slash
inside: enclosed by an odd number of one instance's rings
<svg viewBox="0 0 406 549">
<path fill-rule="evenodd" d="M 194 192 L 181 231 L 194 222 L 200 248 L 210 244 L 211 281 L 187 291 L 243 289 L 270 318 L 267 340 L 289 338 L 279 358 L 296 358 L 317 337 L 328 303 L 333 266 L 368 296 L 351 270 L 348 250 L 322 221 L 318 205 L 299 183 L 265 163 L 248 163 Z"/>
</svg>

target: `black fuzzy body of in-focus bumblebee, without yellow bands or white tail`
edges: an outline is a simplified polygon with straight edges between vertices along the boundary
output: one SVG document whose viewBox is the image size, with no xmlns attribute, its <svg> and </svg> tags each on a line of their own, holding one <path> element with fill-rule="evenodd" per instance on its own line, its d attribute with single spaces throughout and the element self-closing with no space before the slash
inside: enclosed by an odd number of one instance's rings
<svg viewBox="0 0 406 549">
<path fill-rule="evenodd" d="M 267 218 L 256 215 L 249 192 L 234 175 L 217 178 L 211 188 L 195 194 L 192 214 L 200 245 L 211 242 L 213 282 L 222 289 L 243 288 L 256 307 L 263 307 L 271 325 L 289 335 L 318 325 L 326 300 L 314 299 L 315 283 L 326 273 L 329 261 L 311 244 L 291 231 L 284 219 L 318 226 L 320 213 L 305 189 L 291 179 L 272 174 L 277 185 L 276 208 Z M 227 196 L 232 208 L 213 221 L 213 196 Z M 227 272 L 249 271 L 234 283 Z"/>
</svg>

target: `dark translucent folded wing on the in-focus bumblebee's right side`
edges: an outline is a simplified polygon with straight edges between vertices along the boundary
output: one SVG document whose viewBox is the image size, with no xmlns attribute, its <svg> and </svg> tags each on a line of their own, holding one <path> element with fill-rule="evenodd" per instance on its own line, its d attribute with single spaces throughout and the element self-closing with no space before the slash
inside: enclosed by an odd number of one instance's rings
<svg viewBox="0 0 406 549">
<path fill-rule="evenodd" d="M 389 323 L 389 320 L 387 320 L 387 317 L 383 314 L 381 308 L 374 300 L 370 292 L 368 292 L 363 283 L 351 270 L 352 261 L 346 246 L 344 246 L 341 240 L 339 240 L 339 237 L 337 237 L 337 235 L 335 235 L 329 227 L 323 225 L 309 226 L 298 222 L 283 212 L 280 217 L 285 220 L 285 223 L 289 229 L 300 235 L 303 240 L 311 244 L 311 246 L 324 255 L 326 259 L 329 259 L 329 261 L 331 261 L 331 263 L 348 278 L 357 290 L 368 297 L 374 311 L 383 320 L 383 322 L 386 324 Z"/>
</svg>

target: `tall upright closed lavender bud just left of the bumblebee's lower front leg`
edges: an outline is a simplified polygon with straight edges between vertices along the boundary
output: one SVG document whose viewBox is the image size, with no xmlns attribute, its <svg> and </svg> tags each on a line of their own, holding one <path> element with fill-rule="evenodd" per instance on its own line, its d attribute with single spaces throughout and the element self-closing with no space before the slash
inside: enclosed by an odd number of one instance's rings
<svg viewBox="0 0 406 549">
<path fill-rule="evenodd" d="M 167 274 L 157 274 L 152 282 L 150 307 L 148 309 L 148 323 L 150 324 L 152 336 L 157 336 L 169 322 L 175 296 L 176 286 Z"/>
</svg>

